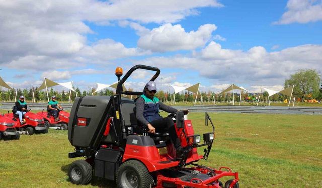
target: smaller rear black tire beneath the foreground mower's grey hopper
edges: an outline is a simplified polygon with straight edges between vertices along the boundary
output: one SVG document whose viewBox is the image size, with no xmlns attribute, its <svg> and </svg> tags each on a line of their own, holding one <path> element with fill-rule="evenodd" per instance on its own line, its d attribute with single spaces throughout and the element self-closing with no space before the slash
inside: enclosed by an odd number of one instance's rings
<svg viewBox="0 0 322 188">
<path fill-rule="evenodd" d="M 89 184 L 92 181 L 92 166 L 85 160 L 76 160 L 69 167 L 68 177 L 74 184 Z"/>
</svg>

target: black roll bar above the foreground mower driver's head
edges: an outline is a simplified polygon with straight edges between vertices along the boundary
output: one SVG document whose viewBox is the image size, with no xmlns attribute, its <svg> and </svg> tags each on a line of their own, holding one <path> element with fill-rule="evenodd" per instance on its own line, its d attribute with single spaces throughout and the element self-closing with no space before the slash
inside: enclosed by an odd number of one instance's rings
<svg viewBox="0 0 322 188">
<path fill-rule="evenodd" d="M 160 69 L 157 67 L 151 67 L 147 65 L 135 65 L 133 66 L 127 73 L 123 76 L 121 80 L 118 81 L 117 87 L 116 87 L 116 94 L 126 94 L 126 95 L 141 95 L 142 92 L 134 92 L 134 91 L 125 91 L 123 92 L 123 83 L 128 79 L 128 77 L 136 70 L 136 69 L 145 69 L 145 70 L 151 70 L 156 71 L 154 76 L 150 79 L 150 81 L 154 81 L 160 74 Z"/>
</svg>

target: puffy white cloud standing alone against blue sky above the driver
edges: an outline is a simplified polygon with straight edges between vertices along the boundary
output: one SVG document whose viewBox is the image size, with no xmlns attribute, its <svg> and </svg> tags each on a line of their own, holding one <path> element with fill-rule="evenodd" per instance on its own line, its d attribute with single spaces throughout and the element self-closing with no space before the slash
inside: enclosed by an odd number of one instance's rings
<svg viewBox="0 0 322 188">
<path fill-rule="evenodd" d="M 185 32 L 180 24 L 168 23 L 152 29 L 149 33 L 144 32 L 137 44 L 142 49 L 154 52 L 193 50 L 204 46 L 216 29 L 214 24 L 205 24 L 197 31 Z"/>
</svg>

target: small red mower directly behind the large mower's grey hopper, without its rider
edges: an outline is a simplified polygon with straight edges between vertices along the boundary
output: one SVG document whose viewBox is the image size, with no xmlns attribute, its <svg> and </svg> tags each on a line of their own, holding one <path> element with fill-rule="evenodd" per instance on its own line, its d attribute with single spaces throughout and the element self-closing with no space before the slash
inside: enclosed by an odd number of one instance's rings
<svg viewBox="0 0 322 188">
<path fill-rule="evenodd" d="M 45 125 L 47 127 L 57 130 L 67 130 L 70 114 L 63 110 L 63 108 L 59 108 L 59 121 L 55 121 L 54 116 L 49 112 L 45 113 L 44 110 L 42 110 L 42 112 L 38 112 L 37 115 L 44 118 Z"/>
</svg>

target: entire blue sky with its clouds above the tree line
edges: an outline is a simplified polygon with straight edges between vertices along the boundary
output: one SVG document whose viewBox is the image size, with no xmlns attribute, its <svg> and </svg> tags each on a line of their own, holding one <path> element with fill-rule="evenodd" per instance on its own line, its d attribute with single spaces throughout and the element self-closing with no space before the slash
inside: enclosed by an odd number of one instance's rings
<svg viewBox="0 0 322 188">
<path fill-rule="evenodd" d="M 320 0 L 1 2 L 0 76 L 15 88 L 47 77 L 89 90 L 114 83 L 117 66 L 145 64 L 161 69 L 164 90 L 278 90 L 298 69 L 321 73 L 321 21 Z M 126 87 L 150 77 L 137 72 Z"/>
</svg>

